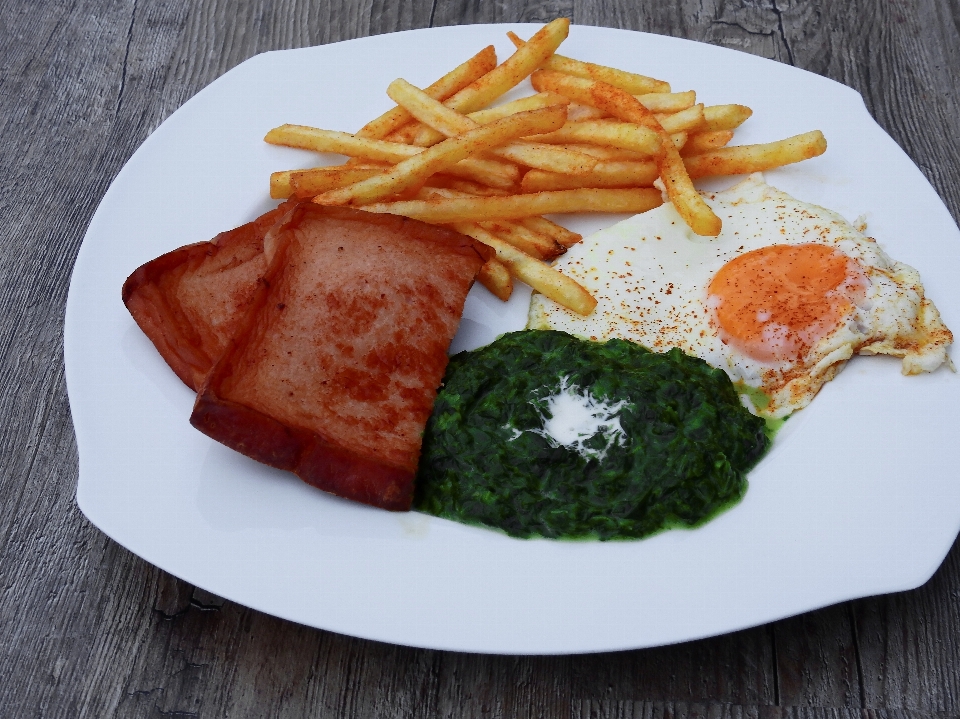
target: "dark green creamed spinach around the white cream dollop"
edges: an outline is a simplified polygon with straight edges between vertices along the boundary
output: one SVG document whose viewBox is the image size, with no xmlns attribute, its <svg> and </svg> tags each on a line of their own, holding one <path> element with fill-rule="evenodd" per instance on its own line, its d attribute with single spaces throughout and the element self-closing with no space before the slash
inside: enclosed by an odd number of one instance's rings
<svg viewBox="0 0 960 719">
<path fill-rule="evenodd" d="M 622 403 L 622 436 L 543 432 L 564 388 Z M 451 358 L 424 434 L 415 507 L 515 537 L 635 539 L 736 504 L 767 450 L 764 420 L 680 350 L 524 330 Z M 593 450 L 593 451 L 590 451 Z"/>
</svg>

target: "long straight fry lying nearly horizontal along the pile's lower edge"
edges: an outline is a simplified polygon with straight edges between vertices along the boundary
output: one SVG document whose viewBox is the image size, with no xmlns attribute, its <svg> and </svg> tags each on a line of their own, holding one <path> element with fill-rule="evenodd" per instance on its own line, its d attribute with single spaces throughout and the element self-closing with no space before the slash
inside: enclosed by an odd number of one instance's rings
<svg viewBox="0 0 960 719">
<path fill-rule="evenodd" d="M 432 224 L 516 220 L 565 212 L 624 212 L 635 215 L 663 203 L 654 188 L 561 190 L 508 197 L 437 197 L 367 205 L 368 212 L 389 212 Z"/>
</svg>

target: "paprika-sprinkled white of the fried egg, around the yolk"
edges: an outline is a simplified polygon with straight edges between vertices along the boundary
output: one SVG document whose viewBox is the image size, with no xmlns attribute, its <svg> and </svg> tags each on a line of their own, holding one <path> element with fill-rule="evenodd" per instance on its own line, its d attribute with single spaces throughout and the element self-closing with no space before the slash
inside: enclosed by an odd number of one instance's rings
<svg viewBox="0 0 960 719">
<path fill-rule="evenodd" d="M 948 361 L 952 335 L 924 297 L 917 271 L 839 214 L 790 197 L 760 174 L 705 199 L 723 221 L 716 238 L 694 234 L 666 202 L 575 245 L 554 267 L 586 287 L 596 309 L 582 317 L 535 294 L 528 327 L 597 341 L 617 337 L 659 352 L 679 347 L 723 369 L 753 398 L 757 414 L 774 418 L 809 404 L 854 353 L 901 357 L 904 374 Z M 796 361 L 758 361 L 721 341 L 707 301 L 717 271 L 761 247 L 806 243 L 860 264 L 867 291 L 853 313 Z"/>
</svg>

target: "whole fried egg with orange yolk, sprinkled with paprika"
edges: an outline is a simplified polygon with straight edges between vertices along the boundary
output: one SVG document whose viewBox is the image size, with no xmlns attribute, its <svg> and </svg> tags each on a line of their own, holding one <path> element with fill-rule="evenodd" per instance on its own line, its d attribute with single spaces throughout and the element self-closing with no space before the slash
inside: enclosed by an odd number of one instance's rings
<svg viewBox="0 0 960 719">
<path fill-rule="evenodd" d="M 669 202 L 602 230 L 554 263 L 597 299 L 593 313 L 535 294 L 528 327 L 679 347 L 770 418 L 805 407 L 857 353 L 899 357 L 904 374 L 949 364 L 953 335 L 920 275 L 839 214 L 760 174 L 705 199 L 719 237 L 693 234 Z"/>
</svg>

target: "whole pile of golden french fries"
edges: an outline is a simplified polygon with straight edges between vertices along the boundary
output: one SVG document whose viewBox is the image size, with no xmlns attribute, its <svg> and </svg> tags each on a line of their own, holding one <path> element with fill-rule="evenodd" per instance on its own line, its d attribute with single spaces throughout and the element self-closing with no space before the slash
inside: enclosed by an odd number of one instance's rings
<svg viewBox="0 0 960 719">
<path fill-rule="evenodd" d="M 275 172 L 274 198 L 313 198 L 448 225 L 489 245 L 496 258 L 480 282 L 502 300 L 513 278 L 561 305 L 590 314 L 596 300 L 547 262 L 580 241 L 543 217 L 576 212 L 639 213 L 663 202 L 690 228 L 715 237 L 721 222 L 693 180 L 769 170 L 822 154 L 820 131 L 728 147 L 752 111 L 704 107 L 693 91 L 662 80 L 556 54 L 570 21 L 560 18 L 497 64 L 481 50 L 427 88 L 398 79 L 397 106 L 356 134 L 282 125 L 264 138 L 346 155 L 345 164 Z M 499 106 L 526 78 L 536 94 Z"/>
</svg>

